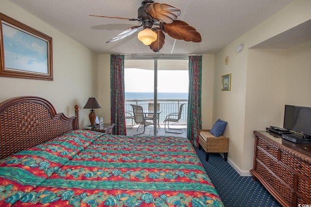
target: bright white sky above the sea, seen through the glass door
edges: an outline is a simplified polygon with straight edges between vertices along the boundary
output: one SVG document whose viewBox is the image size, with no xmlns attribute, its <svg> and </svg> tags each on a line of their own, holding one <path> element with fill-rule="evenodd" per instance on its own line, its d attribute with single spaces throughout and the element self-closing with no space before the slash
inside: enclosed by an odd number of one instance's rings
<svg viewBox="0 0 311 207">
<path fill-rule="evenodd" d="M 188 93 L 188 70 L 158 70 L 158 93 Z M 154 70 L 124 68 L 125 92 L 154 92 Z"/>
</svg>

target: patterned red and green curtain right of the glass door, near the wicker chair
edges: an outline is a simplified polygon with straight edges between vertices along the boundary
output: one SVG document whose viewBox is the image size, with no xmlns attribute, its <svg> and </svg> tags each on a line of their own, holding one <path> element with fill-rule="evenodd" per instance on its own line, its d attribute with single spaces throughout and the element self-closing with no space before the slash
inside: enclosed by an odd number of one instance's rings
<svg viewBox="0 0 311 207">
<path fill-rule="evenodd" d="M 187 138 L 194 146 L 199 146 L 201 120 L 202 56 L 189 56 L 189 97 Z"/>
</svg>

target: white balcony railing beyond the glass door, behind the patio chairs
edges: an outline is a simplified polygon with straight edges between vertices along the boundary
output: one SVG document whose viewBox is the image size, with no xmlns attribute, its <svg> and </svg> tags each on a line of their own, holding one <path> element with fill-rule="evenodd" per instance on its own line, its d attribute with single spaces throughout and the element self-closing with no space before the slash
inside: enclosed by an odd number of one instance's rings
<svg viewBox="0 0 311 207">
<path fill-rule="evenodd" d="M 149 102 L 153 102 L 153 99 L 125 99 L 125 106 L 124 110 L 125 111 L 132 111 L 133 113 L 133 108 L 131 104 L 133 105 L 139 105 L 141 106 L 144 110 L 148 110 L 148 104 Z M 170 113 L 178 113 L 179 111 L 179 106 L 181 104 L 185 104 L 183 106 L 183 110 L 181 112 L 181 118 L 179 120 L 180 123 L 187 123 L 187 117 L 188 117 L 188 99 L 157 99 L 157 102 L 159 103 L 159 109 L 162 111 L 159 114 L 159 122 L 160 124 L 163 123 L 165 120 L 165 117 L 169 115 Z M 127 116 L 127 115 L 126 115 Z M 175 118 L 175 117 L 173 117 Z M 126 120 L 126 123 L 129 124 L 131 121 Z"/>
</svg>

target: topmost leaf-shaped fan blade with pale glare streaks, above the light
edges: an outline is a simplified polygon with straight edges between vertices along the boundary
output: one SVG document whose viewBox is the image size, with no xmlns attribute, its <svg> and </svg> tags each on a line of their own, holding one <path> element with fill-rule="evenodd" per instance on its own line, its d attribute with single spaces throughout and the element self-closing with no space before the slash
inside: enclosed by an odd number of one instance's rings
<svg viewBox="0 0 311 207">
<path fill-rule="evenodd" d="M 157 2 L 147 3 L 145 11 L 157 21 L 162 21 L 168 24 L 172 23 L 173 20 L 177 19 L 177 17 L 181 14 L 180 9 L 174 6 L 167 3 Z"/>
</svg>

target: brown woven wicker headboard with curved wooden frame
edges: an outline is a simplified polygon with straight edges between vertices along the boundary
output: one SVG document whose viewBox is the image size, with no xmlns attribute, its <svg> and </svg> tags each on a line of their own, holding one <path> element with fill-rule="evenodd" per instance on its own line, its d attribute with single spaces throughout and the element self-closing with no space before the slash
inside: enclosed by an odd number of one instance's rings
<svg viewBox="0 0 311 207">
<path fill-rule="evenodd" d="M 66 117 L 36 96 L 20 96 L 0 103 L 0 159 L 79 129 L 79 111 Z"/>
</svg>

